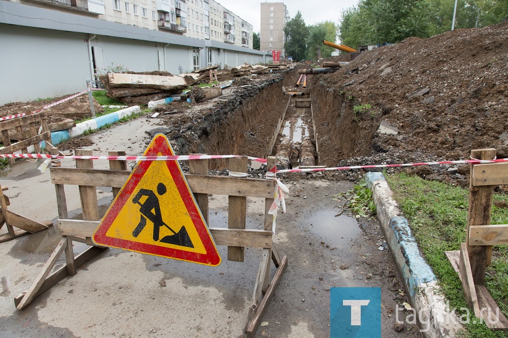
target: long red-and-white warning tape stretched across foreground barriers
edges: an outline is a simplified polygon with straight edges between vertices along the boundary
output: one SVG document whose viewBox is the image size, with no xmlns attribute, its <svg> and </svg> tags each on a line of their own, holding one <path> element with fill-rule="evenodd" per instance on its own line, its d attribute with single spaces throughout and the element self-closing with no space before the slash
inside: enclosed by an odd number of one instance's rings
<svg viewBox="0 0 508 338">
<path fill-rule="evenodd" d="M 120 161 L 183 161 L 183 160 L 197 160 L 197 159 L 216 159 L 216 158 L 232 158 L 242 157 L 239 155 L 171 155 L 171 156 L 60 156 L 49 154 L 0 154 L 0 157 L 7 158 L 58 158 L 58 159 L 91 159 L 91 160 L 120 160 Z M 248 159 L 260 163 L 266 163 L 266 159 L 258 157 L 248 157 Z M 417 166 L 417 165 L 439 165 L 439 164 L 484 164 L 484 163 L 500 163 L 508 162 L 508 158 L 498 158 L 493 160 L 479 160 L 468 159 L 459 161 L 439 161 L 439 162 L 421 162 L 421 163 L 403 163 L 403 164 L 376 164 L 376 165 L 353 165 L 353 166 L 335 166 L 327 168 L 306 168 L 306 169 L 284 169 L 276 170 L 275 167 L 271 168 L 268 176 L 273 174 L 284 173 L 308 173 L 308 172 L 324 172 L 332 170 L 353 170 L 353 169 L 372 169 L 372 168 L 392 168 L 402 166 Z"/>
</svg>

